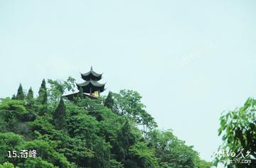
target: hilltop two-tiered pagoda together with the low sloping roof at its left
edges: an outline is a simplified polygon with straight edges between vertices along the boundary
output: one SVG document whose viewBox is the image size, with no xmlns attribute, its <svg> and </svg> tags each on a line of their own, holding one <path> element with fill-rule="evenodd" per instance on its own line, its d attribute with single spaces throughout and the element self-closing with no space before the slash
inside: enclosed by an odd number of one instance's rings
<svg viewBox="0 0 256 168">
<path fill-rule="evenodd" d="M 89 72 L 80 74 L 81 78 L 85 80 L 85 82 L 76 84 L 79 91 L 74 94 L 66 95 L 65 97 L 67 97 L 68 100 L 73 101 L 75 96 L 78 96 L 78 94 L 82 94 L 84 97 L 90 97 L 91 99 L 96 99 L 98 96 L 100 96 L 100 93 L 105 91 L 105 84 L 100 84 L 98 82 L 100 79 L 102 79 L 102 74 L 98 74 L 93 71 L 92 67 L 90 68 Z"/>
</svg>

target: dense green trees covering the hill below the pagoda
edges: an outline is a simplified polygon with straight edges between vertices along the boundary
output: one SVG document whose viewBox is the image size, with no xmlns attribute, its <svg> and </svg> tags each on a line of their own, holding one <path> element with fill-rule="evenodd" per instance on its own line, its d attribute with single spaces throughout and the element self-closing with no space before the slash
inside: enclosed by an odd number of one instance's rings
<svg viewBox="0 0 256 168">
<path fill-rule="evenodd" d="M 137 91 L 105 98 L 63 99 L 74 79 L 43 80 L 38 97 L 22 87 L 0 102 L 0 167 L 20 168 L 209 168 L 193 147 L 170 130 L 156 129 Z M 36 150 L 37 157 L 7 157 L 8 151 Z"/>
</svg>

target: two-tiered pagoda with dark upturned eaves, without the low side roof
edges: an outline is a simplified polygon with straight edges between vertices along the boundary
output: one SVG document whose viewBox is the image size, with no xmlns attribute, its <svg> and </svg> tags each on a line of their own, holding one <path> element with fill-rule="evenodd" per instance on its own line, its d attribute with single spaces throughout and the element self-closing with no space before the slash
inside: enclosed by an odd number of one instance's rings
<svg viewBox="0 0 256 168">
<path fill-rule="evenodd" d="M 85 80 L 85 82 L 76 85 L 78 86 L 78 90 L 82 89 L 83 93 L 97 97 L 100 96 L 102 91 L 105 91 L 105 84 L 98 83 L 98 81 L 102 79 L 102 74 L 94 72 L 92 67 L 89 72 L 85 74 L 81 73 L 81 77 Z"/>
</svg>

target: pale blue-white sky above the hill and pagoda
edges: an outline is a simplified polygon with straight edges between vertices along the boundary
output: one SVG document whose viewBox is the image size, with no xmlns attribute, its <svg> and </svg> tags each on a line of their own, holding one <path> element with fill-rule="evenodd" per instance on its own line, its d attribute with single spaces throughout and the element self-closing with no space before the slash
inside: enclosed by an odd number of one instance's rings
<svg viewBox="0 0 256 168">
<path fill-rule="evenodd" d="M 133 89 L 161 129 L 217 149 L 218 118 L 256 95 L 255 1 L 0 1 L 0 97 L 21 82 L 82 82 L 92 65 L 108 91 Z"/>
</svg>

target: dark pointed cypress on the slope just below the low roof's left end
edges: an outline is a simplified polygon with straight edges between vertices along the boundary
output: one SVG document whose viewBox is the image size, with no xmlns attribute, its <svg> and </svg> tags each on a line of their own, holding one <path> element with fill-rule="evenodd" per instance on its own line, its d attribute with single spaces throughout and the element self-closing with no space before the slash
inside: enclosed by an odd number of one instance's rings
<svg viewBox="0 0 256 168">
<path fill-rule="evenodd" d="M 58 107 L 55 109 L 53 113 L 53 122 L 56 129 L 65 130 L 65 103 L 62 97 L 60 98 L 60 103 L 58 104 Z"/>
</svg>

